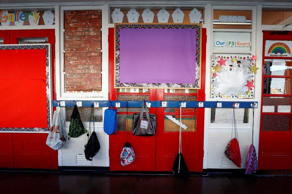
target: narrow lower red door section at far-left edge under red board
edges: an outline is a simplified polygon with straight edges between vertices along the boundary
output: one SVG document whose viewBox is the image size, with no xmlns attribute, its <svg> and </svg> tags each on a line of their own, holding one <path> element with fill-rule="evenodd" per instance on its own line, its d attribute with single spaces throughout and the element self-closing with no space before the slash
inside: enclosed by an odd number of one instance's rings
<svg viewBox="0 0 292 194">
<path fill-rule="evenodd" d="M 0 168 L 13 168 L 12 133 L 0 133 Z"/>
</svg>

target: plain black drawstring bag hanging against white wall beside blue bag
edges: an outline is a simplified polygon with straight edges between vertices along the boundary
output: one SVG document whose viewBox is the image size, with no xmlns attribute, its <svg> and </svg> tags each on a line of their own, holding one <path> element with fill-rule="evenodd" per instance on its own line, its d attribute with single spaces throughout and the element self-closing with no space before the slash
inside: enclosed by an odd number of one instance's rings
<svg viewBox="0 0 292 194">
<path fill-rule="evenodd" d="M 91 106 L 91 113 L 90 113 L 90 123 L 89 123 L 89 134 L 91 132 L 91 123 L 93 123 L 93 132 L 92 134 L 90 135 L 90 138 L 89 138 L 89 135 L 88 135 L 88 138 L 87 138 L 87 143 L 86 143 L 86 146 L 85 146 L 85 149 L 84 149 L 84 153 L 85 153 L 85 158 L 89 161 L 92 161 L 92 158 L 95 156 L 95 154 L 97 154 L 97 152 L 99 151 L 100 149 L 100 144 L 99 144 L 99 141 L 98 141 L 98 138 L 96 136 L 96 133 L 95 133 L 95 129 L 94 129 L 94 112 L 93 112 L 93 105 Z"/>
</svg>

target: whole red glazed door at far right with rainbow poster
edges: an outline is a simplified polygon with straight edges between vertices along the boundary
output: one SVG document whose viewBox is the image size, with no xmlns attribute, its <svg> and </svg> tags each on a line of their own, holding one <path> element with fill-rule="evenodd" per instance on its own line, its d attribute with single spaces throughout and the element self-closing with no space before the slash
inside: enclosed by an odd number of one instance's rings
<svg viewBox="0 0 292 194">
<path fill-rule="evenodd" d="M 292 35 L 270 32 L 264 32 L 263 35 L 263 91 L 258 168 L 292 169 L 292 57 L 265 56 L 265 47 L 271 50 L 277 46 L 285 47 L 285 52 L 291 54 L 291 46 L 289 48 L 288 42 L 285 41 L 292 41 Z M 274 41 L 274 45 L 270 45 L 270 40 Z M 273 71 L 277 67 L 282 70 Z"/>
</svg>

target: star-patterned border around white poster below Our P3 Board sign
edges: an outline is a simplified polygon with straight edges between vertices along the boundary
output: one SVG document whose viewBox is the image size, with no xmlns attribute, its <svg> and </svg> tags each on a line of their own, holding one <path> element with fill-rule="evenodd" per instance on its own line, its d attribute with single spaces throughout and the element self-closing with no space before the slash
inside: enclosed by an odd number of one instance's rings
<svg viewBox="0 0 292 194">
<path fill-rule="evenodd" d="M 219 69 L 221 70 L 221 65 L 223 68 L 228 68 L 223 65 L 225 65 L 225 61 L 231 59 L 232 61 L 238 61 L 238 60 L 244 60 L 244 61 L 250 61 L 250 65 L 247 67 L 249 70 L 251 70 L 252 67 L 255 66 L 255 60 L 251 56 L 214 56 L 212 57 L 212 65 L 211 65 L 211 98 L 254 98 L 254 73 L 250 71 L 249 75 L 250 78 L 247 80 L 247 91 L 246 94 L 220 94 L 220 92 L 215 91 L 216 87 L 216 77 L 217 74 L 220 73 L 217 71 L 216 67 L 219 66 Z M 221 60 L 223 60 L 222 63 Z M 224 63 L 224 64 L 223 64 Z M 255 67 L 256 68 L 256 67 Z M 218 84 L 218 82 L 217 82 Z M 218 85 L 217 85 L 218 87 Z"/>
</svg>

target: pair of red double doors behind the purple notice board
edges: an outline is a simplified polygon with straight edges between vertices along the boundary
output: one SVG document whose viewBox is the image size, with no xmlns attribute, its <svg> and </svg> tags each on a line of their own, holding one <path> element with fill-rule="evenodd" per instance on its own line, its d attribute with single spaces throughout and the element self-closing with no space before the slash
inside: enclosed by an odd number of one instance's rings
<svg viewBox="0 0 292 194">
<path fill-rule="evenodd" d="M 206 50 L 206 29 L 202 30 L 202 51 Z M 114 29 L 109 28 L 109 99 L 110 100 L 205 100 L 205 61 L 206 55 L 202 56 L 202 83 L 200 90 L 176 90 L 176 93 L 164 92 L 164 89 L 139 89 L 137 93 L 130 89 L 114 88 Z M 205 54 L 205 52 L 202 52 Z M 135 171 L 171 171 L 175 156 L 178 152 L 178 126 L 169 122 L 166 116 L 179 117 L 179 109 L 150 108 L 150 113 L 156 114 L 156 135 L 151 137 L 134 136 L 132 129 L 132 114 L 139 112 L 140 107 L 128 108 L 128 121 L 126 109 L 118 108 L 118 131 L 117 135 L 109 136 L 109 168 L 110 170 L 135 170 Z M 203 169 L 203 130 L 204 109 L 184 109 L 182 123 L 188 125 L 188 132 L 183 132 L 183 153 L 188 168 L 191 171 Z M 125 124 L 128 123 L 128 124 Z M 127 127 L 126 127 L 127 126 Z M 125 129 L 128 129 L 128 136 Z M 133 147 L 136 160 L 128 166 L 121 166 L 119 155 L 125 142 L 130 142 Z"/>
</svg>

